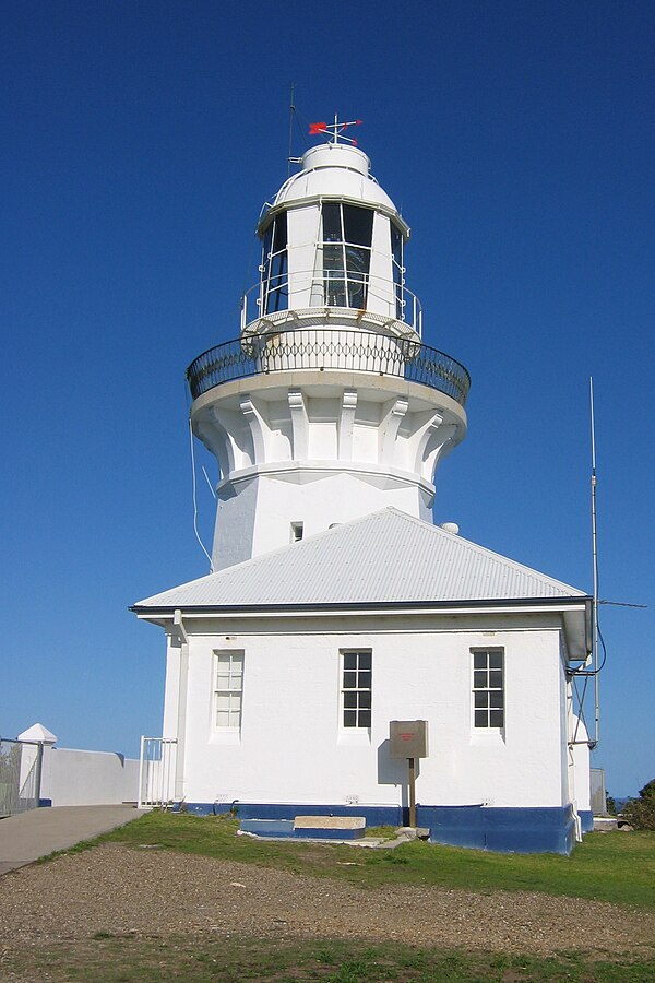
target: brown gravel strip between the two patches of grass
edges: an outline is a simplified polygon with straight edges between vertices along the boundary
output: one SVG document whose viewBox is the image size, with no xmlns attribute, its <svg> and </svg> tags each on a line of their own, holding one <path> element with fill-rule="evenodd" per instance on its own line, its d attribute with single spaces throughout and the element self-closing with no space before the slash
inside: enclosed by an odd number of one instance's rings
<svg viewBox="0 0 655 983">
<path fill-rule="evenodd" d="M 361 889 L 115 844 L 0 878 L 0 949 L 88 939 L 97 932 L 359 937 L 505 952 L 655 956 L 655 914 L 539 893 Z"/>
</svg>

